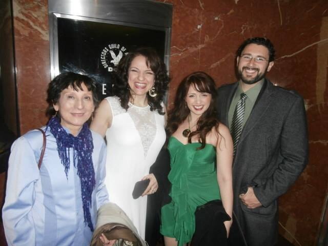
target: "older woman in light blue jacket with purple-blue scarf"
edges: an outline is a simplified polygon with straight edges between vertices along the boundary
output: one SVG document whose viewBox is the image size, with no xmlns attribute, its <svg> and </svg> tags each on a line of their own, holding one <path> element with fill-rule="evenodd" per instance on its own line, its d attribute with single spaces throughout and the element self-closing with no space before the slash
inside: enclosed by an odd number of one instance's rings
<svg viewBox="0 0 328 246">
<path fill-rule="evenodd" d="M 11 149 L 3 222 L 9 245 L 89 245 L 97 209 L 108 201 L 106 145 L 86 121 L 98 103 L 97 86 L 66 72 L 48 88 L 45 132 L 32 130 Z M 40 168 L 43 143 L 45 154 Z"/>
</svg>

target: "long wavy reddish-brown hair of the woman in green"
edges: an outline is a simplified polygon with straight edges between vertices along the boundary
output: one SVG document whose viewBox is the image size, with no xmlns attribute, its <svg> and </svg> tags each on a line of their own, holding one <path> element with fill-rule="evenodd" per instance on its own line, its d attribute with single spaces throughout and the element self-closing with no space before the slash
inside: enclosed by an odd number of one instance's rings
<svg viewBox="0 0 328 246">
<path fill-rule="evenodd" d="M 201 147 L 198 149 L 203 149 L 206 145 L 206 135 L 213 127 L 217 129 L 220 123 L 217 119 L 217 111 L 215 107 L 217 95 L 215 82 L 207 73 L 195 72 L 183 78 L 176 92 L 174 107 L 170 110 L 168 115 L 167 132 L 169 135 L 172 135 L 178 129 L 183 120 L 185 120 L 190 114 L 190 110 L 186 103 L 186 96 L 191 86 L 194 86 L 199 92 L 207 92 L 212 96 L 208 110 L 198 119 L 197 130 L 191 132 L 188 136 L 188 142 L 191 143 L 191 138 L 198 135 L 198 141 L 201 143 Z"/>
</svg>

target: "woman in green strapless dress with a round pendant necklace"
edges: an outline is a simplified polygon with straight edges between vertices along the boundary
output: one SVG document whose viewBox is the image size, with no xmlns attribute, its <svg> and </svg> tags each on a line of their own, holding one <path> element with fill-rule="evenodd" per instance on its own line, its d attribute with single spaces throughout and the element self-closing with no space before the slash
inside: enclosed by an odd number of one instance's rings
<svg viewBox="0 0 328 246">
<path fill-rule="evenodd" d="M 196 72 L 182 80 L 169 113 L 169 180 L 172 201 L 162 207 L 161 234 L 166 246 L 186 245 L 195 232 L 198 206 L 221 199 L 232 218 L 233 142 L 215 109 L 214 80 Z M 227 237 L 232 220 L 224 221 Z"/>
</svg>

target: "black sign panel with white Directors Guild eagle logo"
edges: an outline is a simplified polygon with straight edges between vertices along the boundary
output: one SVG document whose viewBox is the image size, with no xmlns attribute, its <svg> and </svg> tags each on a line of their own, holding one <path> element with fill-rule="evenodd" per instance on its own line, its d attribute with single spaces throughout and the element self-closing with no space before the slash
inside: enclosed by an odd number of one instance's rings
<svg viewBox="0 0 328 246">
<path fill-rule="evenodd" d="M 84 71 L 111 95 L 112 73 L 119 60 L 137 47 L 153 47 L 165 58 L 165 30 L 152 27 L 57 18 L 58 69 Z"/>
</svg>

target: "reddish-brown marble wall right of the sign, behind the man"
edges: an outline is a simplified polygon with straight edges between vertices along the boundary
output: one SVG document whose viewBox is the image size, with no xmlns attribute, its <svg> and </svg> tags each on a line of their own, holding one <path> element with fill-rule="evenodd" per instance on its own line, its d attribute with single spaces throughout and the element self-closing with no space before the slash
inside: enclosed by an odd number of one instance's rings
<svg viewBox="0 0 328 246">
<path fill-rule="evenodd" d="M 314 245 L 328 188 L 328 2 L 163 2 L 174 6 L 170 103 L 179 81 L 193 71 L 211 74 L 218 86 L 235 81 L 235 52 L 244 39 L 264 36 L 275 44 L 268 77 L 304 97 L 310 139 L 309 165 L 280 199 L 279 231 L 295 245 Z"/>
</svg>

